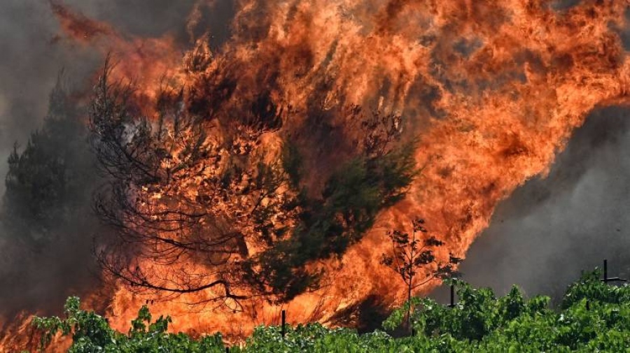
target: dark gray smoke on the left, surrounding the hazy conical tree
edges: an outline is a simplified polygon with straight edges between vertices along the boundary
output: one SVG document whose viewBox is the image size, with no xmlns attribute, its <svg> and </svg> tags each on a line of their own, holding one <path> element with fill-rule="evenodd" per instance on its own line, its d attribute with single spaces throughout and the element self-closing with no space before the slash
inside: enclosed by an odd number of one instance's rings
<svg viewBox="0 0 630 353">
<path fill-rule="evenodd" d="M 57 1 L 59 2 L 59 1 Z M 109 22 L 125 36 L 174 36 L 186 45 L 190 36 L 186 21 L 195 0 L 65 0 L 77 12 Z M 195 29 L 201 36 L 210 29 L 214 45 L 228 37 L 234 13 L 232 1 L 218 1 L 202 9 Z M 104 63 L 97 50 L 72 43 L 59 29 L 48 1 L 0 1 L 0 203 L 5 194 L 7 157 L 18 143 L 24 150 L 30 134 L 41 129 L 49 96 L 63 70 L 66 88 L 89 94 L 93 73 Z M 78 164 L 80 161 L 69 161 Z M 75 180 L 87 178 L 76 176 Z M 90 176 L 89 178 L 92 178 Z M 83 180 L 85 181 L 85 180 Z M 93 182 L 92 182 L 93 184 Z M 91 185 L 90 187 L 94 187 Z M 78 198 L 80 199 L 80 198 Z M 51 233 L 56 240 L 33 251 L 22 246 L 21 234 L 10 234 L 0 220 L 0 315 L 19 310 L 58 312 L 66 296 L 80 294 L 96 285 L 98 271 L 92 258 L 92 236 L 97 220 L 90 215 L 90 194 L 82 199 L 76 221 L 59 224 Z M 17 207 L 15 204 L 1 205 Z M 70 206 L 69 206 L 70 207 Z"/>
</svg>

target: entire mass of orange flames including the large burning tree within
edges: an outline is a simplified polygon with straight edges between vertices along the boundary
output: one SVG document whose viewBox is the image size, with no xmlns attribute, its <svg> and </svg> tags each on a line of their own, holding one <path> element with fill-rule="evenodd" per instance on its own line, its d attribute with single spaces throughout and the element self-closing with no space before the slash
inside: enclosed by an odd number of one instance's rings
<svg viewBox="0 0 630 353">
<path fill-rule="evenodd" d="M 197 2 L 191 36 L 214 6 Z M 73 119 L 101 175 L 83 191 L 111 285 L 86 295 L 123 331 L 147 302 L 175 330 L 235 338 L 282 308 L 335 324 L 370 298 L 428 291 L 437 281 L 405 288 L 379 263 L 387 231 L 421 215 L 440 245 L 427 264 L 455 265 L 590 110 L 629 99 L 627 1 L 234 6 L 212 48 L 211 33 L 134 38 L 51 2 L 67 41 L 109 55 Z M 35 185 L 27 151 L 10 160 L 10 212 Z"/>
</svg>

